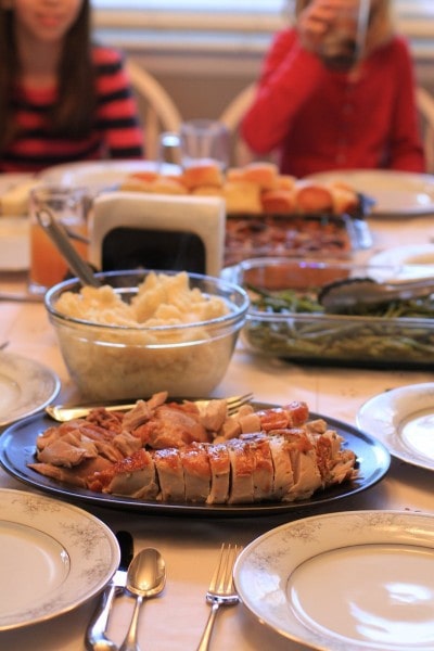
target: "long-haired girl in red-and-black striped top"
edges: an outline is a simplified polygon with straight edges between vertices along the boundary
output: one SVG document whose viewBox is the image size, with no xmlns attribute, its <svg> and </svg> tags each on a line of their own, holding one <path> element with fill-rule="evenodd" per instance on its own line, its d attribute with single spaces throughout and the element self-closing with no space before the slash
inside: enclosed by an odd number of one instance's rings
<svg viewBox="0 0 434 651">
<path fill-rule="evenodd" d="M 91 41 L 89 0 L 0 0 L 0 171 L 139 158 L 122 54 Z"/>
</svg>

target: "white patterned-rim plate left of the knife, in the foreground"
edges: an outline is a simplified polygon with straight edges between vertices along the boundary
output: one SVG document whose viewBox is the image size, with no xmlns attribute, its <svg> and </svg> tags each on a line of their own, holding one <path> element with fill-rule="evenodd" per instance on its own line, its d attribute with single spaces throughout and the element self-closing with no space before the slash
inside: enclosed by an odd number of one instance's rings
<svg viewBox="0 0 434 651">
<path fill-rule="evenodd" d="M 53 498 L 0 489 L 0 630 L 61 615 L 97 595 L 116 572 L 111 529 Z"/>
</svg>

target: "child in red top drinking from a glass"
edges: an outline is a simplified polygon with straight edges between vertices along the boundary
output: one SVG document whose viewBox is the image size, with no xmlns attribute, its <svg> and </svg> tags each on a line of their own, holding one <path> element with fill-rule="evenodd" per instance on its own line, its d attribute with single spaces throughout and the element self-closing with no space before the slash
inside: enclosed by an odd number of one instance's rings
<svg viewBox="0 0 434 651">
<path fill-rule="evenodd" d="M 297 0 L 295 26 L 275 37 L 266 56 L 241 136 L 257 154 L 276 152 L 283 174 L 425 169 L 412 62 L 394 31 L 390 0 L 370 0 L 355 63 L 346 68 L 323 58 L 336 12 L 352 2 Z"/>
</svg>

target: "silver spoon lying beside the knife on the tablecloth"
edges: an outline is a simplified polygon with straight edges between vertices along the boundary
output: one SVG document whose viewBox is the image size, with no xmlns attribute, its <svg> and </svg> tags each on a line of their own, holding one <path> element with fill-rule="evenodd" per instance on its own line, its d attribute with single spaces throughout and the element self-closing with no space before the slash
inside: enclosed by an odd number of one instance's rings
<svg viewBox="0 0 434 651">
<path fill-rule="evenodd" d="M 136 595 L 135 611 L 119 651 L 140 651 L 137 641 L 139 611 L 143 599 L 158 595 L 166 583 L 166 564 L 159 551 L 153 547 L 142 549 L 128 567 L 127 589 Z"/>
</svg>

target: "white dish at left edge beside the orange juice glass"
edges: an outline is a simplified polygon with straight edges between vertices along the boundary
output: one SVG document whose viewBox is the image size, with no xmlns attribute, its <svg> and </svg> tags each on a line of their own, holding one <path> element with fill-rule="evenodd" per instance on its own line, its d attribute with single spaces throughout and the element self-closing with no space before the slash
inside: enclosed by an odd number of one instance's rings
<svg viewBox="0 0 434 651">
<path fill-rule="evenodd" d="M 0 217 L 0 271 L 25 271 L 29 264 L 28 217 Z"/>
</svg>

